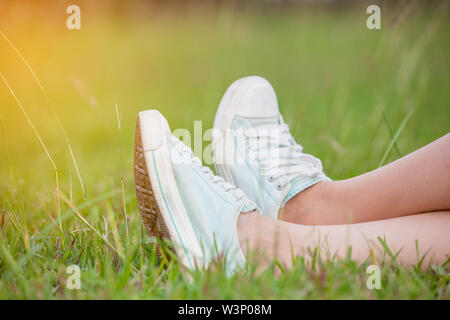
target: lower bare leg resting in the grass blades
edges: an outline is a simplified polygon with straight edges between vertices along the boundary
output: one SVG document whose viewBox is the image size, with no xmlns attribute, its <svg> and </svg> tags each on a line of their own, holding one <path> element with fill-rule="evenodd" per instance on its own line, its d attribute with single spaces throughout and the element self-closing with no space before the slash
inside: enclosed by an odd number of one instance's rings
<svg viewBox="0 0 450 320">
<path fill-rule="evenodd" d="M 426 255 L 423 267 L 444 263 L 450 254 L 449 212 L 424 213 L 408 217 L 375 222 L 338 226 L 304 226 L 273 220 L 256 213 L 241 214 L 238 236 L 244 253 L 254 250 L 272 261 L 277 258 L 289 267 L 292 255 L 309 259 L 308 248 L 319 246 L 330 257 L 345 257 L 352 247 L 352 259 L 364 262 L 372 254 L 377 262 L 385 256 L 378 237 L 383 239 L 395 254 L 402 250 L 397 262 L 415 265 Z M 416 251 L 418 240 L 419 257 Z M 389 259 L 389 256 L 386 257 Z"/>
</svg>

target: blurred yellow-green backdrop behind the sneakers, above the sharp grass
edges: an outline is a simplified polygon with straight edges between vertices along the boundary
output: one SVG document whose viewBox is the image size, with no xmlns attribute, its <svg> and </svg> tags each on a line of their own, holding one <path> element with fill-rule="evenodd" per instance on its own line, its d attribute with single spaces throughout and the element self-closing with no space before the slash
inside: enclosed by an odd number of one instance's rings
<svg viewBox="0 0 450 320">
<path fill-rule="evenodd" d="M 66 28 L 66 7 L 73 3 L 81 8 L 81 30 Z M 137 113 L 157 108 L 172 130 L 192 130 L 201 120 L 205 131 L 226 88 L 242 76 L 273 84 L 297 141 L 322 159 L 333 179 L 376 168 L 412 110 L 387 161 L 447 133 L 448 2 L 377 3 L 381 30 L 366 28 L 370 3 L 360 1 L 2 1 L 0 29 L 61 118 L 87 198 L 55 113 L 3 37 L 0 72 L 74 203 L 121 188 L 122 153 L 125 207 L 137 223 Z M 0 212 L 10 214 L 19 203 L 32 235 L 38 221 L 56 217 L 55 172 L 3 82 L 0 118 Z M 117 195 L 113 206 L 120 201 Z"/>
</svg>

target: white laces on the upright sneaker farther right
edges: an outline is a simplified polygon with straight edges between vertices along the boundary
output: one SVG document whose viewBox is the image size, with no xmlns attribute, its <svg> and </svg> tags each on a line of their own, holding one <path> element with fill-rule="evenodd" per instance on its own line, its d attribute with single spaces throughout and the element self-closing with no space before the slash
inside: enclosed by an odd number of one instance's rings
<svg viewBox="0 0 450 320">
<path fill-rule="evenodd" d="M 283 121 L 247 129 L 244 137 L 249 151 L 260 163 L 260 174 L 267 176 L 270 182 L 278 180 L 278 190 L 297 177 L 315 177 L 323 172 L 322 162 L 303 153 L 303 147 L 295 141 Z"/>
</svg>

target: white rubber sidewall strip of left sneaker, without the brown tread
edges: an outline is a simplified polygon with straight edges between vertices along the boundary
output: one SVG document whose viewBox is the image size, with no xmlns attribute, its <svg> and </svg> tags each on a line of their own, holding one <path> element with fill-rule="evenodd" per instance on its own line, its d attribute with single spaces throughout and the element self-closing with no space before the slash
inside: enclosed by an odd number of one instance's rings
<svg viewBox="0 0 450 320">
<path fill-rule="evenodd" d="M 177 256 L 188 268 L 203 266 L 203 254 L 175 180 L 167 134 L 170 128 L 157 110 L 139 113 L 145 163 L 161 215 Z"/>
</svg>

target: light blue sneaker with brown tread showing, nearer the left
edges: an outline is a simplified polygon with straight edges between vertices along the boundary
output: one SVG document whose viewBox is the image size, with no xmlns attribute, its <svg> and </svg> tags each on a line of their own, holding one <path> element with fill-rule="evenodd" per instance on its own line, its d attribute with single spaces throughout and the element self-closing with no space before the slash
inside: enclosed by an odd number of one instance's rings
<svg viewBox="0 0 450 320">
<path fill-rule="evenodd" d="M 237 236 L 241 212 L 256 209 L 245 194 L 203 167 L 156 110 L 142 111 L 135 133 L 136 197 L 147 232 L 168 237 L 189 269 L 225 259 L 231 274 L 245 263 Z"/>
</svg>

